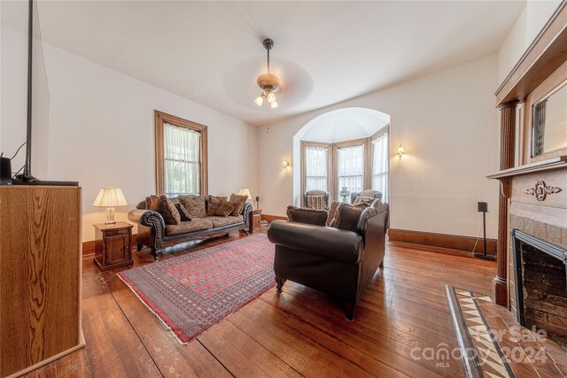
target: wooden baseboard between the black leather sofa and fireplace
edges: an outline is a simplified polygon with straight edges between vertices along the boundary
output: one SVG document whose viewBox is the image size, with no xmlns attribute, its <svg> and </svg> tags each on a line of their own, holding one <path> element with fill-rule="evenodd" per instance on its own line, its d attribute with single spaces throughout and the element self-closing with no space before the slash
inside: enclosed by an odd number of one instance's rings
<svg viewBox="0 0 567 378">
<path fill-rule="evenodd" d="M 434 234 L 431 232 L 395 228 L 390 228 L 388 235 L 390 236 L 390 242 L 428 245 L 431 247 L 469 252 L 473 252 L 473 248 L 474 252 L 484 251 L 482 238 L 477 239 L 476 237 L 470 236 Z M 486 253 L 489 255 L 496 254 L 496 239 L 486 239 Z"/>
</svg>

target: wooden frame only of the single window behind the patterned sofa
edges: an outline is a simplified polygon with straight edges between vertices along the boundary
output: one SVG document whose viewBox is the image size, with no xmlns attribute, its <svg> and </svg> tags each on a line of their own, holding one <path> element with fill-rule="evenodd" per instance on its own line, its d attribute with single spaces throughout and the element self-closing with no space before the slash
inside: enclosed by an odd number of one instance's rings
<svg viewBox="0 0 567 378">
<path fill-rule="evenodd" d="M 207 135 L 206 126 L 198 124 L 190 120 L 183 120 L 183 118 L 176 117 L 175 115 L 167 114 L 165 112 L 155 111 L 155 166 L 156 166 L 156 194 L 158 196 L 165 192 L 165 170 L 164 170 L 164 155 L 163 155 L 163 129 L 164 123 L 175 125 L 177 127 L 186 127 L 191 130 L 198 131 L 201 134 L 201 149 L 200 149 L 200 171 L 199 171 L 199 195 L 208 195 L 208 162 L 207 162 Z"/>
</svg>

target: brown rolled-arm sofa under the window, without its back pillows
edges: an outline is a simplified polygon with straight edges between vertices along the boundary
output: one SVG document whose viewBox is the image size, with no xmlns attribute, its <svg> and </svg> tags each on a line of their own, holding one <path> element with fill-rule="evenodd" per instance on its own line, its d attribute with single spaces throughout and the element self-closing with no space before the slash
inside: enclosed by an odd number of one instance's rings
<svg viewBox="0 0 567 378">
<path fill-rule="evenodd" d="M 150 248 L 154 259 L 157 259 L 159 253 L 162 253 L 166 247 L 176 243 L 208 239 L 235 230 L 242 230 L 248 234 L 248 217 L 252 211 L 252 204 L 246 203 L 237 216 L 205 216 L 181 221 L 177 225 L 167 225 L 159 212 L 147 210 L 145 206 L 145 201 L 140 202 L 135 210 L 128 213 L 128 220 L 138 225 L 137 251 L 141 251 L 145 245 Z"/>
</svg>

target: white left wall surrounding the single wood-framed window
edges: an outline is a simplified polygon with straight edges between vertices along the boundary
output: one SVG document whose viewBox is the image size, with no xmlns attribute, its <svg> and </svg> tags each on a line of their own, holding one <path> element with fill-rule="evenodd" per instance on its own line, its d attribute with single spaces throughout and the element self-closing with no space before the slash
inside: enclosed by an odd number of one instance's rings
<svg viewBox="0 0 567 378">
<path fill-rule="evenodd" d="M 2 50 L 6 46 L 10 54 L 2 57 L 1 136 L 2 150 L 10 153 L 25 140 L 26 88 L 21 75 L 4 68 L 13 67 L 19 56 L 25 61 L 27 44 L 22 42 L 27 42 L 24 35 L 2 28 Z M 256 127 L 50 44 L 44 44 L 44 53 L 50 86 L 49 165 L 38 178 L 79 181 L 83 242 L 94 238 L 92 225 L 105 220 L 105 209 L 92 206 L 101 187 L 119 187 L 128 201 L 116 209 L 117 220 L 127 220 L 139 201 L 155 193 L 155 109 L 208 127 L 209 193 L 258 192 Z M 22 121 L 23 129 L 12 127 Z"/>
</svg>

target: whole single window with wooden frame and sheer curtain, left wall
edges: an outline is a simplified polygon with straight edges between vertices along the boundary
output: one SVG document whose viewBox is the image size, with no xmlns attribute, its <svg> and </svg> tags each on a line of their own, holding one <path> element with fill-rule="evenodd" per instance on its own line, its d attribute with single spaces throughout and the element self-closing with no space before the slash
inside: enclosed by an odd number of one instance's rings
<svg viewBox="0 0 567 378">
<path fill-rule="evenodd" d="M 156 111 L 156 192 L 207 194 L 206 126 Z"/>
</svg>

